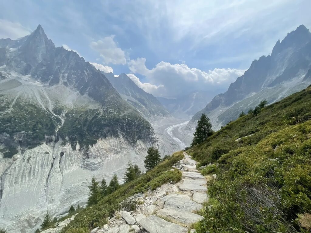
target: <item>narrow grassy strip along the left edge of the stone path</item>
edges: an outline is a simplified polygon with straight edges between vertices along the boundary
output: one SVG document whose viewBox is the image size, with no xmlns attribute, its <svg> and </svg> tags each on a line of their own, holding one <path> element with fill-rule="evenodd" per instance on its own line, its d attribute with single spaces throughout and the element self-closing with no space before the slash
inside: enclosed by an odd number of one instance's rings
<svg viewBox="0 0 311 233">
<path fill-rule="evenodd" d="M 176 169 L 174 171 L 169 169 L 182 158 L 183 153 L 176 152 L 170 159 L 160 163 L 151 171 L 148 171 L 136 180 L 122 185 L 120 189 L 104 197 L 98 204 L 82 210 L 69 226 L 62 230 L 62 233 L 90 232 L 93 228 L 104 225 L 107 221 L 106 218 L 112 216 L 114 211 L 118 210 L 119 204 L 126 198 L 140 192 L 144 193 L 150 187 L 154 190 L 169 181 L 179 181 L 181 172 Z"/>
</svg>

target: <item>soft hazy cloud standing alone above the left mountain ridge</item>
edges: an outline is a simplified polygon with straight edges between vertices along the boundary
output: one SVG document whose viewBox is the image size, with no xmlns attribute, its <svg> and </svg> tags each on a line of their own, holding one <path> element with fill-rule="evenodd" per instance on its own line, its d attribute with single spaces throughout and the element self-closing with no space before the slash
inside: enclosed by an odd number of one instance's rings
<svg viewBox="0 0 311 233">
<path fill-rule="evenodd" d="M 105 37 L 102 40 L 92 41 L 90 47 L 100 54 L 100 57 L 104 60 L 104 64 L 126 64 L 125 53 L 114 42 L 114 35 Z"/>
</svg>

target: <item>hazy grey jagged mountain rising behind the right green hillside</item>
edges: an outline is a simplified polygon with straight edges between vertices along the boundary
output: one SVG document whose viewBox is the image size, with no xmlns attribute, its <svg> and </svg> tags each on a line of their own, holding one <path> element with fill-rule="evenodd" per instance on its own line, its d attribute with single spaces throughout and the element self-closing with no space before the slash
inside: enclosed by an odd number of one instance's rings
<svg viewBox="0 0 311 233">
<path fill-rule="evenodd" d="M 268 103 L 273 103 L 308 87 L 311 80 L 310 56 L 311 33 L 300 25 L 281 42 L 276 42 L 271 55 L 254 60 L 225 93 L 216 95 L 197 112 L 188 128 L 192 128 L 202 113 L 206 113 L 213 128 L 218 130 L 265 98 Z"/>
</svg>

